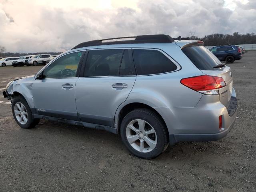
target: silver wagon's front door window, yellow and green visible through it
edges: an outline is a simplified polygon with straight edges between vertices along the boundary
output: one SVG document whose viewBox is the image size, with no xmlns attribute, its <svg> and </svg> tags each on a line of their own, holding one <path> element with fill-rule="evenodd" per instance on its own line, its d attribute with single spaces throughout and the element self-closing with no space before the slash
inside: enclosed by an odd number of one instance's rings
<svg viewBox="0 0 256 192">
<path fill-rule="evenodd" d="M 76 77 L 76 71 L 82 57 L 82 53 L 82 51 L 74 52 L 58 58 L 43 71 L 43 78 Z"/>
</svg>

